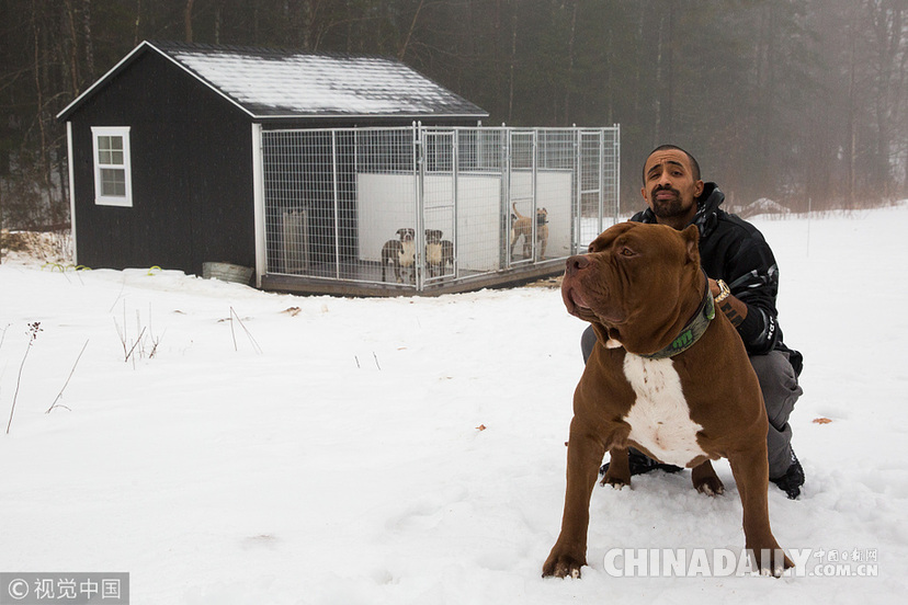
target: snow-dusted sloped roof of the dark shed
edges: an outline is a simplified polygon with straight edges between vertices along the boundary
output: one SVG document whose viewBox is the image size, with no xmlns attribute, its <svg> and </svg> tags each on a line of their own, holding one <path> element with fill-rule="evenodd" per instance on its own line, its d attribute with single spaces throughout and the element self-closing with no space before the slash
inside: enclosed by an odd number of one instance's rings
<svg viewBox="0 0 908 605">
<path fill-rule="evenodd" d="M 147 52 L 173 61 L 252 118 L 488 116 L 481 107 L 386 57 L 143 42 L 57 117 L 65 119 Z"/>
</svg>

